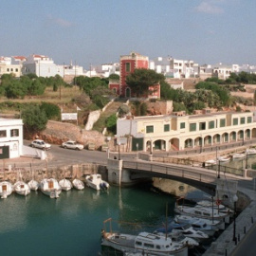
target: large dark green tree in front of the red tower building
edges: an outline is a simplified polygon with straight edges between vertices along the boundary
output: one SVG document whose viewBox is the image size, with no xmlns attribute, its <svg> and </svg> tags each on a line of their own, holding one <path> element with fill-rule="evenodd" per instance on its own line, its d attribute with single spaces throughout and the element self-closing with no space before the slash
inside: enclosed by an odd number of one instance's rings
<svg viewBox="0 0 256 256">
<path fill-rule="evenodd" d="M 147 95 L 150 92 L 149 87 L 161 81 L 164 81 L 162 74 L 146 68 L 135 69 L 133 73 L 126 77 L 126 84 L 137 97 Z"/>
</svg>

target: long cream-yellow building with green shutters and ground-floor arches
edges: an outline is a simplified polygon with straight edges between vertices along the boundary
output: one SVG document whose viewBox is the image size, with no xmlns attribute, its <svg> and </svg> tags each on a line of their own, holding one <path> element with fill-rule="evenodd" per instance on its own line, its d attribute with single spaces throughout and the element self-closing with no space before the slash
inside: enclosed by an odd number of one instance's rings
<svg viewBox="0 0 256 256">
<path fill-rule="evenodd" d="M 208 112 L 118 119 L 117 137 L 127 137 L 129 151 L 179 151 L 256 137 L 252 112 Z"/>
</svg>

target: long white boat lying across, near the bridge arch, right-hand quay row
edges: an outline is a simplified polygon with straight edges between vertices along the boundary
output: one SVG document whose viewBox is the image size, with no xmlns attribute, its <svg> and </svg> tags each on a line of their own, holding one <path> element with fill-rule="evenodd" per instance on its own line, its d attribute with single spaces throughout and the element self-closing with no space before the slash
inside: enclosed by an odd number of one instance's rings
<svg viewBox="0 0 256 256">
<path fill-rule="evenodd" d="M 209 220 L 223 220 L 229 223 L 229 213 L 220 212 L 214 208 L 201 207 L 201 206 L 183 206 L 175 205 L 174 211 L 179 214 L 189 215 L 192 217 L 209 219 Z"/>
</svg>

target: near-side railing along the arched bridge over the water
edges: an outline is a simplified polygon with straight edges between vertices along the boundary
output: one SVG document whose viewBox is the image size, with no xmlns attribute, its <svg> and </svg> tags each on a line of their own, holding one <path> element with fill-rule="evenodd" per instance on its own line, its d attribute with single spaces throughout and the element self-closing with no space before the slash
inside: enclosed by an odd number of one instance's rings
<svg viewBox="0 0 256 256">
<path fill-rule="evenodd" d="M 133 169 L 141 172 L 151 172 L 157 174 L 174 175 L 183 178 L 193 179 L 201 182 L 213 183 L 217 177 L 216 174 L 202 174 L 185 170 L 182 166 L 164 166 L 146 162 L 128 162 L 123 161 L 123 168 Z"/>
</svg>

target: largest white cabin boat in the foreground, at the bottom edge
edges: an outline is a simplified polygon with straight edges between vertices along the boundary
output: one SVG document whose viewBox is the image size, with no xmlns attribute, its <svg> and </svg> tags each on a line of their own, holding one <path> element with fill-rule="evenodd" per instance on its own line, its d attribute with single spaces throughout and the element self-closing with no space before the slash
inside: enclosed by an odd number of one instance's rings
<svg viewBox="0 0 256 256">
<path fill-rule="evenodd" d="M 101 246 L 112 247 L 124 253 L 147 253 L 159 256 L 188 256 L 188 247 L 165 237 L 149 232 L 137 235 L 101 231 Z M 141 254 L 140 254 L 141 255 Z"/>
</svg>

